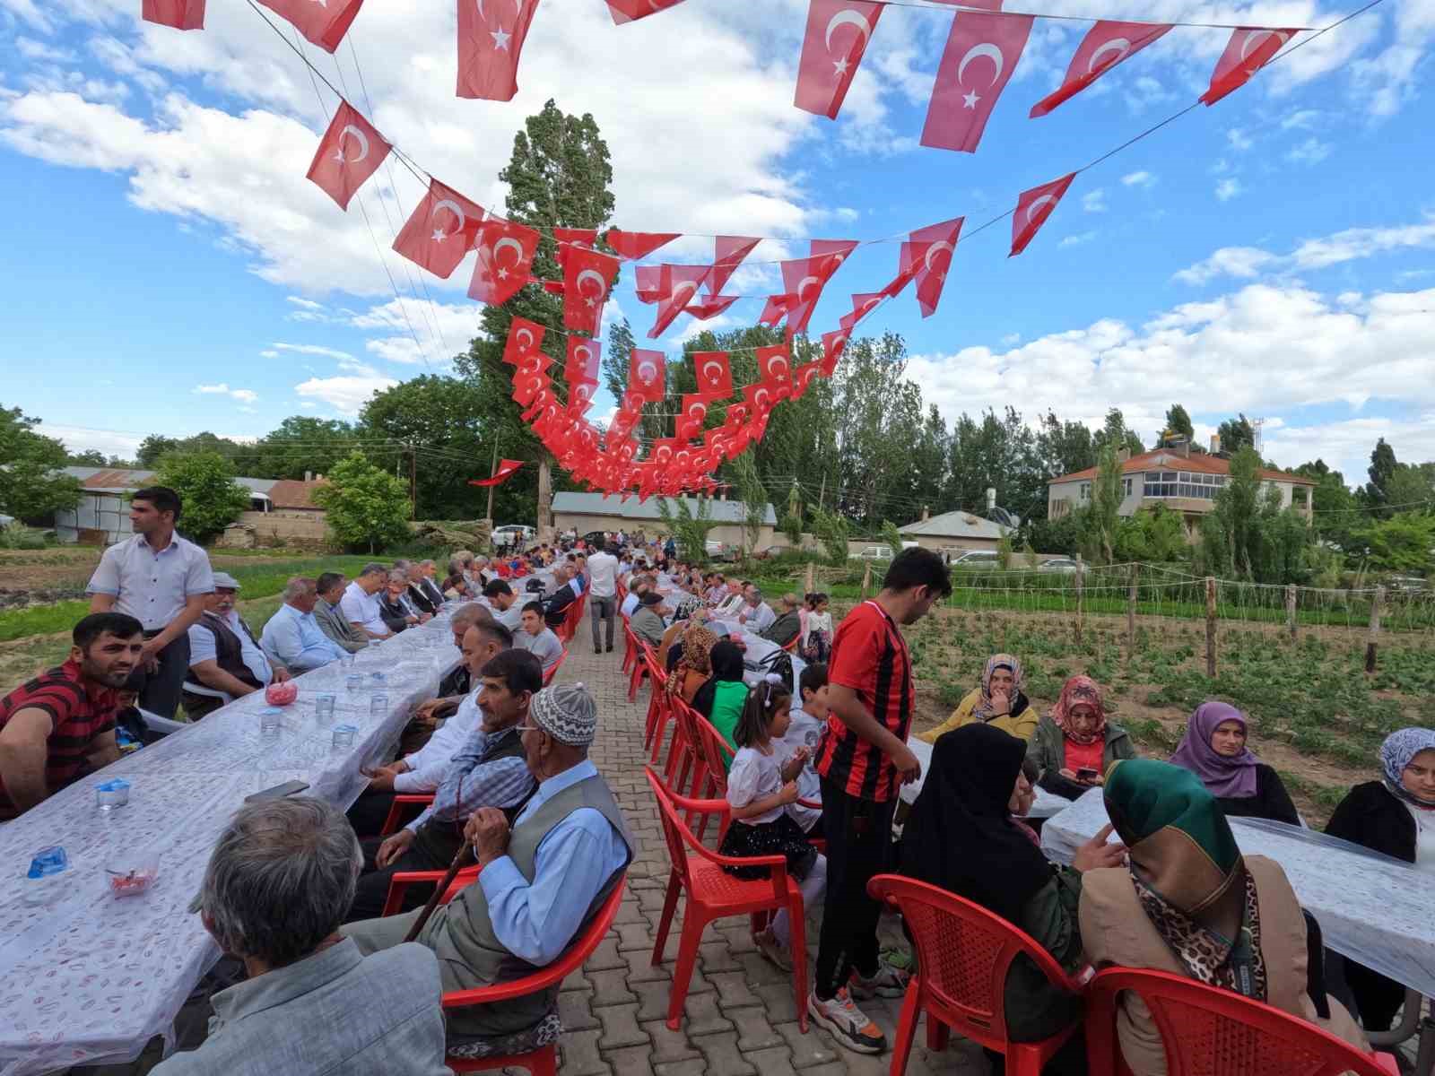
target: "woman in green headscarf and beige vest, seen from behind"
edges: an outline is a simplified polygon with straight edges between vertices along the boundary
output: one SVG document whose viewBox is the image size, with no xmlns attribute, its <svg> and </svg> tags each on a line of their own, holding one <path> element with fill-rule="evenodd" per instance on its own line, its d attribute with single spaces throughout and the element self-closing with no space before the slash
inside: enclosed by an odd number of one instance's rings
<svg viewBox="0 0 1435 1076">
<path fill-rule="evenodd" d="M 1128 865 L 1082 877 L 1081 934 L 1098 968 L 1185 976 L 1264 1001 L 1369 1050 L 1350 1014 L 1312 997 L 1306 918 L 1280 865 L 1243 856 L 1215 798 L 1190 770 L 1125 759 L 1106 772 L 1106 812 Z M 1317 977 L 1319 978 L 1319 977 Z M 1165 1076 L 1151 1011 L 1124 996 L 1116 1011 L 1132 1076 Z"/>
</svg>

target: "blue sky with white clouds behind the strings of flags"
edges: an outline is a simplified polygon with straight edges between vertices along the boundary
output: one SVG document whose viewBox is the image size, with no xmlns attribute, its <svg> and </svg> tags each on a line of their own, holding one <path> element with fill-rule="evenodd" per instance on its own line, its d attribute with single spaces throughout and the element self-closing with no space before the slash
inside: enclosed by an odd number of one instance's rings
<svg viewBox="0 0 1435 1076">
<path fill-rule="evenodd" d="M 1020 10 L 1326 26 L 1355 7 L 1327 3 Z M 446 0 L 372 0 L 352 49 L 306 47 L 412 158 L 499 211 L 522 118 L 548 96 L 591 110 L 616 224 L 772 237 L 728 288 L 753 298 L 709 324 L 755 317 L 781 290 L 766 263 L 804 254 L 806 237 L 966 215 L 938 311 L 921 318 L 907 293 L 864 324 L 904 334 L 908 373 L 949 417 L 1013 403 L 1095 425 L 1119 406 L 1149 439 L 1181 402 L 1198 435 L 1263 416 L 1267 455 L 1320 455 L 1352 481 L 1376 436 L 1403 461 L 1435 459 L 1435 145 L 1421 118 L 1435 0 L 1386 0 L 1081 174 L 1010 260 L 1007 221 L 971 230 L 1184 108 L 1228 32 L 1178 27 L 1032 121 L 1086 29 L 1039 20 L 969 155 L 917 145 L 950 13 L 888 9 L 834 123 L 791 105 L 805 10 L 687 0 L 618 27 L 600 0 L 548 0 L 508 103 L 452 95 Z M 375 387 L 443 370 L 479 308 L 464 296 L 471 261 L 420 280 L 389 251 L 418 181 L 382 169 L 342 212 L 304 179 L 336 100 L 247 4 L 211 3 L 207 29 L 184 34 L 136 14 L 138 0 L 63 13 L 0 0 L 0 402 L 76 448 L 123 453 L 146 432 L 257 436 L 294 413 L 352 416 Z M 664 255 L 710 260 L 712 241 Z M 895 245 L 861 248 L 812 329 L 835 327 L 895 261 Z M 651 324 L 629 273 L 618 313 L 640 336 Z M 660 344 L 676 353 L 695 329 L 680 318 Z"/>
</svg>

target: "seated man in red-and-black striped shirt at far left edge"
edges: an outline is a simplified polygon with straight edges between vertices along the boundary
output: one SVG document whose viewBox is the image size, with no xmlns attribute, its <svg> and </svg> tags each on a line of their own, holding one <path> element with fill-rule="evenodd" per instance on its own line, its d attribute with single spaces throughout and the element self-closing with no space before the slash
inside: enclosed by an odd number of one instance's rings
<svg viewBox="0 0 1435 1076">
<path fill-rule="evenodd" d="M 119 758 L 118 689 L 139 664 L 145 628 L 125 613 L 75 626 L 70 659 L 0 699 L 0 821 Z"/>
</svg>

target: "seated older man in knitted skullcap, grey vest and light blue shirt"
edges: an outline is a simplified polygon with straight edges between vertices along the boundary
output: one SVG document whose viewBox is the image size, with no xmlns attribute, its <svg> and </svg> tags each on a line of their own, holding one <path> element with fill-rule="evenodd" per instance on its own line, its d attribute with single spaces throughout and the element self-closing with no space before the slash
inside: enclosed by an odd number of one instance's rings
<svg viewBox="0 0 1435 1076">
<path fill-rule="evenodd" d="M 418 941 L 439 958 L 445 993 L 507 983 L 551 964 L 593 918 L 633 859 L 633 838 L 588 760 L 598 707 L 583 684 L 545 687 L 519 726 L 538 782 L 512 825 L 476 811 L 464 829 L 482 867 L 478 881 L 438 908 Z M 419 911 L 343 927 L 362 953 L 397 945 Z M 558 1033 L 558 987 L 445 1013 L 449 1056 L 517 1053 Z"/>
</svg>

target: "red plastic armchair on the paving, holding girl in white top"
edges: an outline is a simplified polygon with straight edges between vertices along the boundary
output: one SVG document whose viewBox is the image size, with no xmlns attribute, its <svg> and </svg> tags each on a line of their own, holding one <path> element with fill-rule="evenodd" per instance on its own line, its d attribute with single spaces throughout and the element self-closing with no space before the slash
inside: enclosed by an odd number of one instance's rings
<svg viewBox="0 0 1435 1076">
<path fill-rule="evenodd" d="M 663 963 L 667 947 L 667 931 L 673 925 L 677 898 L 687 892 L 683 907 L 683 935 L 677 944 L 677 964 L 673 968 L 673 991 L 667 1001 L 667 1026 L 677 1030 L 683 1019 L 683 1000 L 687 984 L 697 963 L 697 945 L 703 928 L 713 920 L 729 915 L 749 915 L 759 911 L 788 910 L 792 922 L 792 990 L 796 997 L 798 1027 L 806 1032 L 806 931 L 802 918 L 802 892 L 788 877 L 786 859 L 781 855 L 736 858 L 719 855 L 703 848 L 693 831 L 677 816 L 679 811 L 728 815 L 726 799 L 689 799 L 670 792 L 647 766 L 647 783 L 653 788 L 657 809 L 667 841 L 667 854 L 673 872 L 667 879 L 667 897 L 663 901 L 663 918 L 657 924 L 657 938 L 653 944 L 653 964 Z M 690 851 L 689 851 L 690 849 Z M 766 867 L 768 878 L 743 881 L 728 874 L 723 867 Z"/>
</svg>

